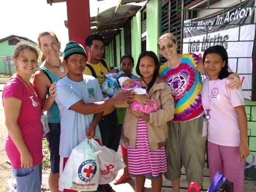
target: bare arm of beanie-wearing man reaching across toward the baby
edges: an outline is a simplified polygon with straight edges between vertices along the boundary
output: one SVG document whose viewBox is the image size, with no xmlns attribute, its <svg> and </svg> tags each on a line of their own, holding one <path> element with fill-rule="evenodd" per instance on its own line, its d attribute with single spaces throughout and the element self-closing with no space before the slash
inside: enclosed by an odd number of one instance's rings
<svg viewBox="0 0 256 192">
<path fill-rule="evenodd" d="M 77 103 L 72 105 L 69 109 L 81 113 L 83 115 L 95 114 L 103 112 L 106 108 L 115 104 L 121 104 L 127 101 L 133 101 L 134 93 L 131 91 L 120 92 L 116 97 L 106 101 L 84 103 L 83 100 L 79 100 Z"/>
</svg>

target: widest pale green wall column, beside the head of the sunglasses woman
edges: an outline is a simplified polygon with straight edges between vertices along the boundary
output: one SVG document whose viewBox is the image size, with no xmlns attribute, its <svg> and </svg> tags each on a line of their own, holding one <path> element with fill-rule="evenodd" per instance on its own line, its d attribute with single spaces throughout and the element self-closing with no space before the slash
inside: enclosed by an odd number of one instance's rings
<svg viewBox="0 0 256 192">
<path fill-rule="evenodd" d="M 153 51 L 158 55 L 157 40 L 159 38 L 159 17 L 161 1 L 150 0 L 147 3 L 147 38 L 146 47 L 148 51 Z"/>
</svg>

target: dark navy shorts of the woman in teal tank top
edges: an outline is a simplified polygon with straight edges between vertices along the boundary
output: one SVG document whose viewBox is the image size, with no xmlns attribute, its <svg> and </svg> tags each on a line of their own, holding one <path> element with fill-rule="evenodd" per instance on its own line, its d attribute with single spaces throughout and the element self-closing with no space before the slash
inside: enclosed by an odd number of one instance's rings
<svg viewBox="0 0 256 192">
<path fill-rule="evenodd" d="M 59 138 L 60 123 L 48 123 L 50 132 L 47 134 L 50 151 L 51 173 L 59 173 Z"/>
</svg>

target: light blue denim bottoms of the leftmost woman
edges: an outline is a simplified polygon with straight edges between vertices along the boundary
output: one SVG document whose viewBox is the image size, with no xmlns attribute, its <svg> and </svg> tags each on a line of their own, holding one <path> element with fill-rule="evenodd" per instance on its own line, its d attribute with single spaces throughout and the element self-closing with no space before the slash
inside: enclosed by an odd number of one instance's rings
<svg viewBox="0 0 256 192">
<path fill-rule="evenodd" d="M 12 169 L 17 192 L 41 192 L 42 164 L 31 169 Z"/>
</svg>

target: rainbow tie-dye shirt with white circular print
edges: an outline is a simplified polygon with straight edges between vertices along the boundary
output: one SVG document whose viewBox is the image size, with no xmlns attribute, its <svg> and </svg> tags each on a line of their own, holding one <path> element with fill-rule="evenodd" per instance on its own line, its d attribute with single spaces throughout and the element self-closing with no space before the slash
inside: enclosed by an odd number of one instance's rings
<svg viewBox="0 0 256 192">
<path fill-rule="evenodd" d="M 179 66 L 169 69 L 167 62 L 160 67 L 160 76 L 171 87 L 175 102 L 172 121 L 188 121 L 204 114 L 201 101 L 202 77 L 196 70 L 200 57 L 182 54 Z"/>
</svg>

